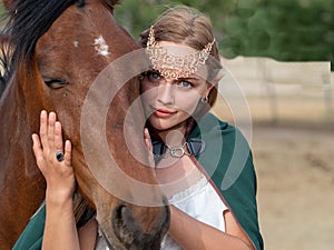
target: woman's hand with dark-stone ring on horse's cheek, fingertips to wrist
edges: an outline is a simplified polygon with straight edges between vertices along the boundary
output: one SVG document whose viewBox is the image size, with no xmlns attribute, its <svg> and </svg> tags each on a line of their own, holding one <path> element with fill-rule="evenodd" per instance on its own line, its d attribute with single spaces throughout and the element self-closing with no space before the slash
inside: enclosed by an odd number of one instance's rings
<svg viewBox="0 0 334 250">
<path fill-rule="evenodd" d="M 41 111 L 39 136 L 32 134 L 32 141 L 38 168 L 47 181 L 47 201 L 61 204 L 72 199 L 76 181 L 71 143 L 67 140 L 63 147 L 61 123 L 55 112 Z M 56 159 L 58 151 L 65 151 L 62 161 Z"/>
</svg>

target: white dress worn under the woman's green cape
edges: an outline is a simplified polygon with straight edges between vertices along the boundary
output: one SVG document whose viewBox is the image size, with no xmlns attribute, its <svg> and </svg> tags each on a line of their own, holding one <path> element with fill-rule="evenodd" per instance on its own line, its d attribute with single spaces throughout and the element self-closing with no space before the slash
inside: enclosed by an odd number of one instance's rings
<svg viewBox="0 0 334 250">
<path fill-rule="evenodd" d="M 169 202 L 196 220 L 219 229 L 220 231 L 225 231 L 223 212 L 228 208 L 204 176 L 190 188 L 176 193 Z M 161 242 L 161 250 L 181 249 L 183 248 L 168 234 Z M 98 234 L 96 250 L 109 250 L 101 233 Z"/>
</svg>

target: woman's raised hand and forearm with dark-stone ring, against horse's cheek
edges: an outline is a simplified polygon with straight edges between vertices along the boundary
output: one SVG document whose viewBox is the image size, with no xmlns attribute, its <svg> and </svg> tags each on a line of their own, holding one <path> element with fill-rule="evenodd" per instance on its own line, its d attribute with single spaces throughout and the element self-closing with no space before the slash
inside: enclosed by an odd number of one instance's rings
<svg viewBox="0 0 334 250">
<path fill-rule="evenodd" d="M 32 134 L 33 153 L 37 166 L 47 181 L 46 227 L 42 250 L 80 249 L 72 193 L 76 186 L 71 166 L 71 143 L 63 147 L 61 124 L 55 112 L 41 111 L 39 136 Z M 63 151 L 63 160 L 58 161 L 56 153 Z"/>
</svg>

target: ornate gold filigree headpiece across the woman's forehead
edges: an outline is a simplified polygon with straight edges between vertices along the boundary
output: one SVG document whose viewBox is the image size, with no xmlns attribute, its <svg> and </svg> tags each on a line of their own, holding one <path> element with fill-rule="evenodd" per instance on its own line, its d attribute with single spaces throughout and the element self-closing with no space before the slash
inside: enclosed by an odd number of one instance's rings
<svg viewBox="0 0 334 250">
<path fill-rule="evenodd" d="M 166 80 L 176 80 L 178 78 L 187 78 L 195 73 L 200 66 L 205 64 L 214 43 L 215 39 L 206 44 L 203 50 L 186 56 L 168 53 L 166 48 L 157 43 L 154 27 L 150 27 L 147 53 L 154 70 L 159 71 Z"/>
</svg>

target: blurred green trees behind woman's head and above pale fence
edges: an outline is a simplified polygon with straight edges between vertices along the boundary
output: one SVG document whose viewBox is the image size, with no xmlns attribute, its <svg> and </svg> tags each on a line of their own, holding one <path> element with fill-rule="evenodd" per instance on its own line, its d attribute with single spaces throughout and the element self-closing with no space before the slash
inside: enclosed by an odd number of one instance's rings
<svg viewBox="0 0 334 250">
<path fill-rule="evenodd" d="M 226 58 L 331 61 L 334 70 L 334 0 L 124 0 L 116 18 L 138 38 L 166 7 L 179 3 L 210 17 Z"/>
</svg>

